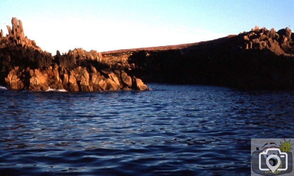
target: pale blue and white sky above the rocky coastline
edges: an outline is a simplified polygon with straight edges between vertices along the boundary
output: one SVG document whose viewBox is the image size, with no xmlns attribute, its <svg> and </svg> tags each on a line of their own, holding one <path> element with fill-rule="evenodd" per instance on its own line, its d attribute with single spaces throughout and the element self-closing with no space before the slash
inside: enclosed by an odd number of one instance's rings
<svg viewBox="0 0 294 176">
<path fill-rule="evenodd" d="M 194 43 L 250 31 L 293 28 L 294 0 L 0 0 L 0 28 L 11 18 L 52 55 Z"/>
</svg>

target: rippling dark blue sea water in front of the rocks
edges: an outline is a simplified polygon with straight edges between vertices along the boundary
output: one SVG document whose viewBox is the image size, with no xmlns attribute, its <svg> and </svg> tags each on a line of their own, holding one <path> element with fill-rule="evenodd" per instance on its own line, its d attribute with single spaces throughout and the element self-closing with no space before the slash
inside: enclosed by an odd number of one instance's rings
<svg viewBox="0 0 294 176">
<path fill-rule="evenodd" d="M 0 175 L 249 175 L 250 138 L 290 138 L 294 92 L 0 90 Z"/>
</svg>

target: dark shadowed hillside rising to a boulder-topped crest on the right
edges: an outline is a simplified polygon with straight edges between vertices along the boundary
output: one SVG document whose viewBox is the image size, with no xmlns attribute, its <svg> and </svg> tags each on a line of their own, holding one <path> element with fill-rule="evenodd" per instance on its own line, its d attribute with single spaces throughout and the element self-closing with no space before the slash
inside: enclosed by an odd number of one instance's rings
<svg viewBox="0 0 294 176">
<path fill-rule="evenodd" d="M 101 53 L 144 82 L 294 89 L 294 34 L 253 28 L 216 40 Z M 127 58 L 127 59 L 126 59 Z"/>
</svg>

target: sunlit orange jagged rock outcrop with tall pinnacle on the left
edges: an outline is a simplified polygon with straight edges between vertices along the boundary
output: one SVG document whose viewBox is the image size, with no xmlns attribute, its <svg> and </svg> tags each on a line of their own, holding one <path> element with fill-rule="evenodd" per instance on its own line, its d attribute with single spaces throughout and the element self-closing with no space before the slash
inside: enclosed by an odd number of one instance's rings
<svg viewBox="0 0 294 176">
<path fill-rule="evenodd" d="M 69 91 L 146 90 L 141 79 L 125 67 L 103 59 L 101 53 L 83 49 L 53 57 L 24 37 L 22 23 L 12 18 L 8 35 L 0 33 L 0 84 L 15 90 L 66 89 Z"/>
</svg>

